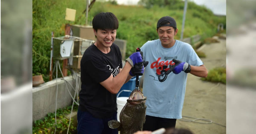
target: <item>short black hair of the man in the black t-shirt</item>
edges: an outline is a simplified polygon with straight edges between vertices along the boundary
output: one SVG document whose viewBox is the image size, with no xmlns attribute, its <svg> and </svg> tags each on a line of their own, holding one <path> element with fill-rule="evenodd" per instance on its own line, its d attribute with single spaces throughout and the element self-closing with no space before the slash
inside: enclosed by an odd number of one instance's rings
<svg viewBox="0 0 256 134">
<path fill-rule="evenodd" d="M 94 16 L 92 28 L 98 29 L 118 29 L 118 19 L 112 12 L 101 12 Z"/>
</svg>

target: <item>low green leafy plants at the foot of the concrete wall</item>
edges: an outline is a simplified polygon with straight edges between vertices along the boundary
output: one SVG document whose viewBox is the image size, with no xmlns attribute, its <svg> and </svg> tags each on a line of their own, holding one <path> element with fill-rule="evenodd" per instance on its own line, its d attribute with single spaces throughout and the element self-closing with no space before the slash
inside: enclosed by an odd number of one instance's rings
<svg viewBox="0 0 256 134">
<path fill-rule="evenodd" d="M 39 119 L 34 122 L 33 125 L 33 134 L 38 133 L 54 133 L 55 126 L 57 126 L 56 132 L 57 133 L 67 133 L 67 127 L 69 125 L 69 117 L 66 117 L 71 112 L 72 106 L 68 106 L 63 109 L 58 109 L 56 112 L 56 118 L 57 118 L 57 125 L 55 125 L 55 113 L 49 113 L 47 116 L 44 117 L 44 119 Z M 74 105 L 73 111 L 77 111 L 78 106 Z M 71 124 L 69 128 L 69 133 L 76 130 L 76 127 L 72 123 L 71 118 Z"/>
</svg>

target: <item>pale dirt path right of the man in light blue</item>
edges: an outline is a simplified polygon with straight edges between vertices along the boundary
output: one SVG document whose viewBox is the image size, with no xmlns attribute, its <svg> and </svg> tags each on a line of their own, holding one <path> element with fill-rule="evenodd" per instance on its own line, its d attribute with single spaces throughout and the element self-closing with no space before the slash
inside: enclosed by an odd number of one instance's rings
<svg viewBox="0 0 256 134">
<path fill-rule="evenodd" d="M 220 43 L 204 44 L 199 48 L 206 54 L 206 58 L 201 58 L 201 60 L 208 71 L 215 67 L 226 66 L 226 39 L 219 40 Z M 226 85 L 205 82 L 199 77 L 189 74 L 182 116 L 183 119 L 190 120 L 205 118 L 213 123 L 202 124 L 177 120 L 177 128 L 187 128 L 195 134 L 226 133 L 226 127 L 221 126 L 226 126 Z M 203 120 L 198 120 L 198 122 L 209 123 Z"/>
</svg>

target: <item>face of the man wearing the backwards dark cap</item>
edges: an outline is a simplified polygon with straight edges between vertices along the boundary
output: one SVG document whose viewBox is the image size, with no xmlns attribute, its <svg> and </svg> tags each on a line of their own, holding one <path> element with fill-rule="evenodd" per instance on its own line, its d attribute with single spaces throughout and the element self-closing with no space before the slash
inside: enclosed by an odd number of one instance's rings
<svg viewBox="0 0 256 134">
<path fill-rule="evenodd" d="M 175 44 L 174 36 L 178 32 L 178 28 L 174 30 L 171 26 L 162 26 L 156 30 L 163 47 L 170 48 Z"/>
</svg>

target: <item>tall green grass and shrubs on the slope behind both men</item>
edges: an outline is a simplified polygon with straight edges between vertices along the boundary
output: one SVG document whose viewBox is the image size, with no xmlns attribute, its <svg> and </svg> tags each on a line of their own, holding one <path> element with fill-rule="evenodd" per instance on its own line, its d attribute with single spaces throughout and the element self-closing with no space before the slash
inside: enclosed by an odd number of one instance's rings
<svg viewBox="0 0 256 134">
<path fill-rule="evenodd" d="M 161 4 L 157 4 L 159 1 L 151 1 L 153 3 L 150 6 L 143 1 L 141 6 L 116 5 L 113 0 L 105 3 L 96 1 L 88 13 L 88 24 L 91 25 L 92 18 L 99 12 L 114 13 L 119 20 L 116 38 L 127 40 L 126 56 L 129 56 L 146 41 L 158 39 L 156 23 L 160 17 L 169 15 L 175 18 L 179 30 L 175 39 L 180 38 L 184 2 L 168 1 Z M 64 19 L 66 8 L 76 9 L 75 22 Z M 51 31 L 54 31 L 55 37 L 59 37 L 64 36 L 66 23 L 85 25 L 86 17 L 82 14 L 85 9 L 84 0 L 33 0 L 33 74 L 43 74 L 44 81 L 48 81 Z M 189 2 L 183 38 L 196 34 L 203 39 L 211 37 L 217 32 L 219 23 L 223 23 L 226 28 L 226 16 L 215 16 L 206 7 Z"/>
</svg>

